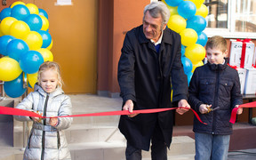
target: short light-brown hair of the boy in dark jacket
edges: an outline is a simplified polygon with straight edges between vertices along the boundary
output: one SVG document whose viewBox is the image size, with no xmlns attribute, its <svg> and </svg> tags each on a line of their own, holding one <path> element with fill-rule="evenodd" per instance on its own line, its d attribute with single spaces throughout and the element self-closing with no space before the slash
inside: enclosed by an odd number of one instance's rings
<svg viewBox="0 0 256 160">
<path fill-rule="evenodd" d="M 219 49 L 221 52 L 227 51 L 227 41 L 222 36 L 212 36 L 208 39 L 205 49 L 208 48 L 216 48 Z"/>
</svg>

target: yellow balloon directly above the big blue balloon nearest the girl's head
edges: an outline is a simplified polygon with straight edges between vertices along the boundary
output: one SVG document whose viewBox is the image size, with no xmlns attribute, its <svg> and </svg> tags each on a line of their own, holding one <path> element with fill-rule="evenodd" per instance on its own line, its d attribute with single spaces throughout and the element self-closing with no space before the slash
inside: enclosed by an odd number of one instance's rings
<svg viewBox="0 0 256 160">
<path fill-rule="evenodd" d="M 30 31 L 22 39 L 28 44 L 30 50 L 38 50 L 43 45 L 43 38 L 36 31 Z"/>
</svg>

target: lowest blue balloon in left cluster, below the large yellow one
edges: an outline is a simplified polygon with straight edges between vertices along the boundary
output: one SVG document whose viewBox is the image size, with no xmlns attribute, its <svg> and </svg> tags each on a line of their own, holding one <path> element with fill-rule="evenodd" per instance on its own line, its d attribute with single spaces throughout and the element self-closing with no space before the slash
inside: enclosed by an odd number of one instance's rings
<svg viewBox="0 0 256 160">
<path fill-rule="evenodd" d="M 12 98 L 17 98 L 24 94 L 26 88 L 23 88 L 23 73 L 12 81 L 4 82 L 4 92 Z"/>
</svg>

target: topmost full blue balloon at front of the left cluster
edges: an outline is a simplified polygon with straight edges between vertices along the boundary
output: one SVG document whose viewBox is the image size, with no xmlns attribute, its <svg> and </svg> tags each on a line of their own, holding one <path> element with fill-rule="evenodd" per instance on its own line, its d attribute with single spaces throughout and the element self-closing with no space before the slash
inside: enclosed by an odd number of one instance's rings
<svg viewBox="0 0 256 160">
<path fill-rule="evenodd" d="M 28 7 L 23 4 L 17 4 L 12 7 L 11 16 L 17 20 L 24 20 L 30 14 Z"/>
</svg>

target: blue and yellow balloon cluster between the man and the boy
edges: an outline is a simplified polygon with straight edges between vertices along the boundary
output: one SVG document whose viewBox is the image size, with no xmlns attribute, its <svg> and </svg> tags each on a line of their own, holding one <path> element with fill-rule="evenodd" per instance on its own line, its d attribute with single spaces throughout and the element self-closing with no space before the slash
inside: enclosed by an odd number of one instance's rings
<svg viewBox="0 0 256 160">
<path fill-rule="evenodd" d="M 204 0 L 165 0 L 164 3 L 171 12 L 168 28 L 181 36 L 181 62 L 189 84 L 195 68 L 204 65 L 204 45 L 208 37 L 203 30 L 208 8 Z"/>
</svg>

